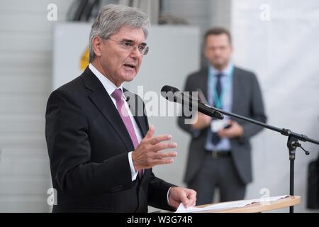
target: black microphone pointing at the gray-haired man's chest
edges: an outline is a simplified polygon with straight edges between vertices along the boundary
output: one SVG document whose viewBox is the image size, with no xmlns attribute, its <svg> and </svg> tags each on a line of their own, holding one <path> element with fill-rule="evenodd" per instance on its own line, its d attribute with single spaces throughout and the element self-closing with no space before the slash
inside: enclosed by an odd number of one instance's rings
<svg viewBox="0 0 319 227">
<path fill-rule="evenodd" d="M 170 92 L 172 95 L 167 95 L 167 92 Z M 167 99 L 168 101 L 174 101 L 183 106 L 186 105 L 189 109 L 192 109 L 191 104 L 193 103 L 194 98 L 184 94 L 183 92 L 179 91 L 176 87 L 171 87 L 169 85 L 165 85 L 161 89 L 161 95 Z M 203 104 L 198 99 L 194 100 L 199 112 L 211 116 L 212 118 L 223 119 L 224 116 L 219 111 L 217 111 L 214 107 L 208 106 L 207 104 Z"/>
</svg>

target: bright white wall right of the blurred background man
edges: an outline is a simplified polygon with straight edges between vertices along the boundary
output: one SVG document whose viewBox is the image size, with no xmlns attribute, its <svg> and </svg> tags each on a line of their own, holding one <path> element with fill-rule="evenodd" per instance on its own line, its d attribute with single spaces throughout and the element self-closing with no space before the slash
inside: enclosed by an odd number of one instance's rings
<svg viewBox="0 0 319 227">
<path fill-rule="evenodd" d="M 319 2 L 242 0 L 233 1 L 232 9 L 235 63 L 257 73 L 268 123 L 318 140 Z M 271 196 L 289 194 L 287 137 L 267 130 L 252 141 L 254 182 L 246 197 L 262 196 L 262 188 L 269 189 Z M 295 194 L 302 204 L 295 210 L 299 212 L 309 211 L 306 171 L 319 149 L 311 143 L 303 146 L 311 154 L 306 156 L 300 148 L 296 153 Z"/>
</svg>

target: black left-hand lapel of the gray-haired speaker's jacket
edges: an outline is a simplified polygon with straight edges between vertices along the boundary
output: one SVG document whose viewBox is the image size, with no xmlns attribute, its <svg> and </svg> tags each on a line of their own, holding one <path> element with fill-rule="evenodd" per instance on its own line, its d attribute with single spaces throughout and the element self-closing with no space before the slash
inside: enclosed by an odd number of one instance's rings
<svg viewBox="0 0 319 227">
<path fill-rule="evenodd" d="M 103 114 L 108 123 L 111 124 L 128 151 L 134 150 L 133 142 L 126 130 L 125 124 L 123 123 L 120 114 L 118 114 L 118 110 L 116 109 L 116 106 L 114 106 L 111 97 L 108 95 L 99 79 L 88 67 L 84 71 L 83 76 L 86 88 L 91 90 L 89 99 L 91 99 L 101 114 Z"/>
</svg>

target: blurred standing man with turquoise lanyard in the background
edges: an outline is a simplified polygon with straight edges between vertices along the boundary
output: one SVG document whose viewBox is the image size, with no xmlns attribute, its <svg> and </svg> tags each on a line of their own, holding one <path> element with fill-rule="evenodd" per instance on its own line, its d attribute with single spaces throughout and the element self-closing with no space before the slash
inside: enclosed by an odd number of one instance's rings
<svg viewBox="0 0 319 227">
<path fill-rule="evenodd" d="M 266 122 L 257 77 L 230 60 L 230 33 L 213 28 L 203 41 L 208 67 L 190 74 L 184 91 L 198 92 L 198 99 L 218 109 Z M 184 181 L 196 190 L 198 205 L 210 204 L 216 188 L 220 201 L 244 199 L 246 185 L 252 182 L 249 140 L 262 128 L 227 116 L 220 121 L 197 114 L 192 124 L 186 124 L 184 116 L 178 121 L 191 135 Z"/>
</svg>

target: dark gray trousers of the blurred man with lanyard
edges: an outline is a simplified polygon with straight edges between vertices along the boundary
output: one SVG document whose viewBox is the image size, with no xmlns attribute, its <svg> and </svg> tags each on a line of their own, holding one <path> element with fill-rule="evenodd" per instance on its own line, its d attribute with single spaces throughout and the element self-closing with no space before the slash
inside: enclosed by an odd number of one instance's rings
<svg viewBox="0 0 319 227">
<path fill-rule="evenodd" d="M 213 157 L 209 152 L 189 187 L 197 192 L 196 205 L 211 204 L 216 187 L 220 192 L 220 202 L 242 200 L 246 191 L 231 155 Z"/>
</svg>

